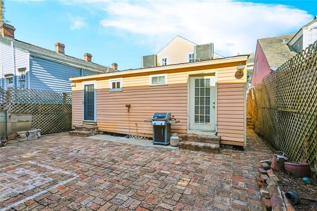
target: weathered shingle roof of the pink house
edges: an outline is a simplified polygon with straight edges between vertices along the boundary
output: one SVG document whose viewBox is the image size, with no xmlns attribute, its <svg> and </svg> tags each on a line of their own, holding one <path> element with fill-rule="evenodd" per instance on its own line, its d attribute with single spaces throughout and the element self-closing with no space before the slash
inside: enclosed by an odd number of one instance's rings
<svg viewBox="0 0 317 211">
<path fill-rule="evenodd" d="M 270 67 L 281 66 L 297 54 L 292 47 L 287 45 L 294 35 L 295 33 L 258 40 Z"/>
</svg>

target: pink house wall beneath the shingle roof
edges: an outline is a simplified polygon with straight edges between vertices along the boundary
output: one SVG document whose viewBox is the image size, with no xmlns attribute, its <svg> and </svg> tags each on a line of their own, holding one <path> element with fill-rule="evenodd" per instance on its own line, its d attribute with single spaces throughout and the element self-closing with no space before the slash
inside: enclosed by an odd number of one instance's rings
<svg viewBox="0 0 317 211">
<path fill-rule="evenodd" d="M 254 67 L 253 67 L 251 86 L 255 86 L 258 83 L 260 83 L 263 80 L 263 78 L 266 75 L 268 75 L 270 72 L 272 72 L 272 70 L 269 67 L 265 54 L 258 41 L 256 54 L 254 58 Z"/>
</svg>

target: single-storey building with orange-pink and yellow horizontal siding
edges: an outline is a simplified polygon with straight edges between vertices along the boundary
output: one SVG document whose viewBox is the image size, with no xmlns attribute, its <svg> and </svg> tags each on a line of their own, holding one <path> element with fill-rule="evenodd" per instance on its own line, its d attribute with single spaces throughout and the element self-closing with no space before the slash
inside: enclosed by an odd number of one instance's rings
<svg viewBox="0 0 317 211">
<path fill-rule="evenodd" d="M 145 122 L 155 112 L 171 112 L 179 123 L 171 133 L 221 136 L 220 143 L 246 144 L 246 66 L 248 55 L 125 70 L 70 78 L 73 126 L 153 136 Z M 129 104 L 128 108 L 126 105 Z"/>
</svg>

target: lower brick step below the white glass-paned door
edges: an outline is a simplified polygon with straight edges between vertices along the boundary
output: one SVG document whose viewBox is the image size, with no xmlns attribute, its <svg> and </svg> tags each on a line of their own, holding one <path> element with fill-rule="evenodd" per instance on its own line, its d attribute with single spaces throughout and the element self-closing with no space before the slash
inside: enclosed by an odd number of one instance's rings
<svg viewBox="0 0 317 211">
<path fill-rule="evenodd" d="M 220 145 L 219 144 L 210 144 L 210 143 L 202 143 L 202 142 L 192 142 L 192 141 L 181 141 L 179 143 L 179 148 L 184 150 L 193 150 L 193 151 L 201 151 L 207 153 L 218 154 Z"/>
</svg>

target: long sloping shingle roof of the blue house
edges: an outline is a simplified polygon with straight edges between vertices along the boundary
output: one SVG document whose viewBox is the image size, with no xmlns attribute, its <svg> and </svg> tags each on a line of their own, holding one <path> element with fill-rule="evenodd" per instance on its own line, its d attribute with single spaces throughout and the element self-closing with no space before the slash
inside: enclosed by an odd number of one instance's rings
<svg viewBox="0 0 317 211">
<path fill-rule="evenodd" d="M 64 54 L 59 54 L 56 53 L 54 51 L 50 51 L 38 46 L 34 46 L 28 43 L 24 43 L 22 41 L 18 41 L 15 39 L 10 39 L 10 38 L 6 38 L 6 37 L 1 37 L 0 36 L 0 43 L 4 43 L 7 45 L 11 45 L 11 41 L 13 41 L 13 45 L 15 48 L 21 49 L 22 51 L 25 52 L 29 52 L 29 53 L 34 53 L 36 55 L 40 55 L 40 56 L 44 56 L 44 57 L 48 57 L 51 59 L 55 59 L 61 62 L 65 62 L 68 64 L 73 64 L 79 68 L 85 69 L 85 70 L 89 70 L 89 71 L 93 71 L 96 73 L 105 73 L 105 72 L 114 72 L 116 70 L 110 68 L 110 67 L 106 67 L 100 64 L 96 64 L 93 62 L 88 62 L 86 60 L 83 59 L 79 59 L 79 58 L 75 58 L 72 56 L 68 56 L 68 55 L 64 55 Z"/>
</svg>

